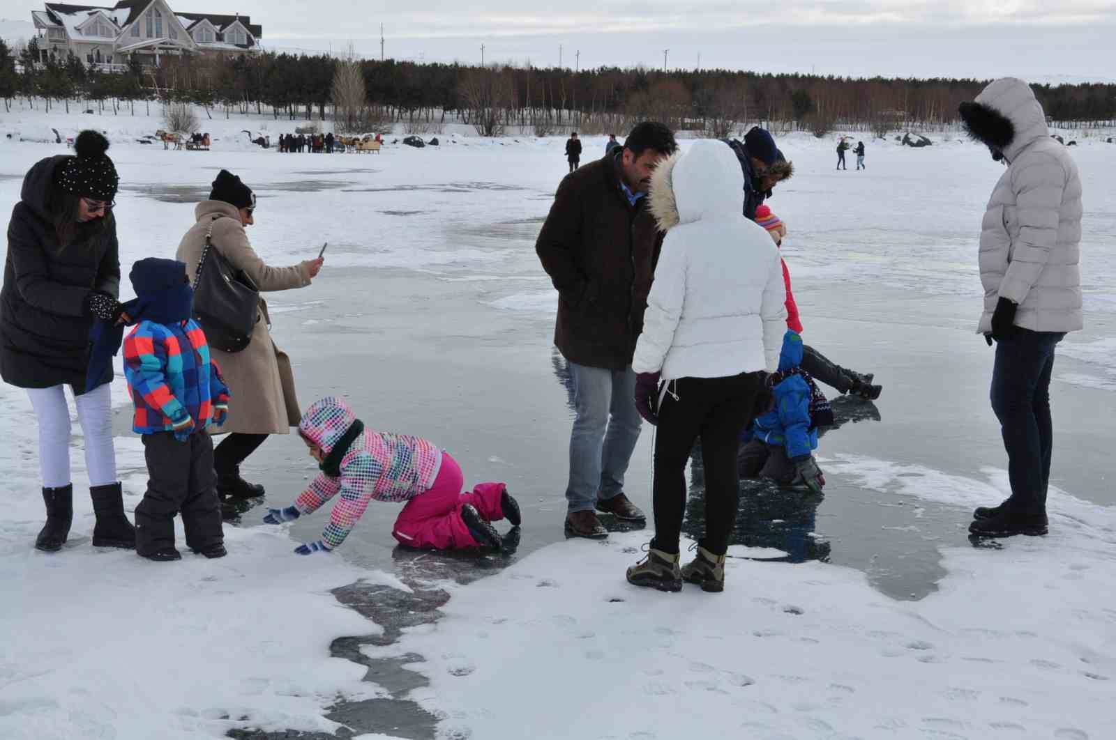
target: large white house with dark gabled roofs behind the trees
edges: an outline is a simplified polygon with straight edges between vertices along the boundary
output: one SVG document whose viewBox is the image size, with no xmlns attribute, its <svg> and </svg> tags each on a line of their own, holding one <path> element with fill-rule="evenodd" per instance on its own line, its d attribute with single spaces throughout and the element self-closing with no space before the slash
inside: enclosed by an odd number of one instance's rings
<svg viewBox="0 0 1116 740">
<path fill-rule="evenodd" d="M 73 51 L 87 66 L 123 69 L 132 57 L 259 51 L 263 29 L 248 16 L 177 12 L 165 0 L 121 0 L 115 6 L 48 2 L 31 12 L 44 58 Z"/>
</svg>

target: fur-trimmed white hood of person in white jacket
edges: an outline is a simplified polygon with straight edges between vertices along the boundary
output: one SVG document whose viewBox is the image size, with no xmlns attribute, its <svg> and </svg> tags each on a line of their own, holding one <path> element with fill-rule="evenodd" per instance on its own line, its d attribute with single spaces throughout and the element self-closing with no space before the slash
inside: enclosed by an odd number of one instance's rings
<svg viewBox="0 0 1116 740">
<path fill-rule="evenodd" d="M 648 206 L 660 231 L 740 215 L 744 176 L 723 142 L 702 139 L 676 152 L 651 176 Z"/>
</svg>

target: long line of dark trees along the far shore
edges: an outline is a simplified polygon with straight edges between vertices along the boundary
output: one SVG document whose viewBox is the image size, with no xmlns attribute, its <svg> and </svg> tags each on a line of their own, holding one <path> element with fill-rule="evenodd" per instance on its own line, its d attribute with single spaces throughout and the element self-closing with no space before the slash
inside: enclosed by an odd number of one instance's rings
<svg viewBox="0 0 1116 740">
<path fill-rule="evenodd" d="M 191 103 L 206 115 L 264 113 L 276 118 L 326 118 L 344 107 L 346 128 L 367 130 L 405 123 L 416 130 L 446 121 L 473 125 L 483 135 L 518 126 L 539 135 L 577 128 L 623 133 L 654 118 L 676 129 L 729 136 L 763 121 L 781 132 L 836 128 L 884 135 L 889 130 L 950 126 L 958 105 L 987 81 L 975 79 L 850 79 L 750 71 L 559 68 L 338 59 L 318 55 L 259 53 L 164 57 L 157 68 L 133 62 L 126 71 L 87 69 L 73 53 L 37 62 L 36 40 L 19 55 L 0 41 L 0 97 L 71 100 L 106 106 L 157 100 Z M 356 76 L 363 76 L 364 95 Z M 335 79 L 337 78 L 337 79 Z M 336 84 L 343 84 L 335 90 Z M 1047 115 L 1067 127 L 1112 125 L 1116 85 L 1035 86 Z M 123 104 L 123 105 L 122 105 Z M 328 109 L 328 110 L 327 110 Z"/>
</svg>

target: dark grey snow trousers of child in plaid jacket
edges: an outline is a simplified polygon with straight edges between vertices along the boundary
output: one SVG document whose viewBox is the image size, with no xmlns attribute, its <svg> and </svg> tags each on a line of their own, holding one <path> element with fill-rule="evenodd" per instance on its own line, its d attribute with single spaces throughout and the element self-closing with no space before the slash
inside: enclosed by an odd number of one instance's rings
<svg viewBox="0 0 1116 740">
<path fill-rule="evenodd" d="M 136 552 L 174 547 L 174 516 L 182 515 L 186 546 L 203 551 L 224 542 L 213 473 L 213 440 L 199 431 L 180 442 L 170 431 L 142 437 L 147 493 L 136 506 Z"/>
</svg>

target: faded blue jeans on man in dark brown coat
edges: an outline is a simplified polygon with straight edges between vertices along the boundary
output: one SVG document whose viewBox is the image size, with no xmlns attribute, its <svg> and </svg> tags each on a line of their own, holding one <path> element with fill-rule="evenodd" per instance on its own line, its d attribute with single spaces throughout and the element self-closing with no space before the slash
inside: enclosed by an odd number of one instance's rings
<svg viewBox="0 0 1116 740">
<path fill-rule="evenodd" d="M 597 499 L 624 493 L 643 419 L 635 410 L 635 372 L 569 363 L 577 418 L 569 439 L 569 513 L 591 512 Z"/>
</svg>

